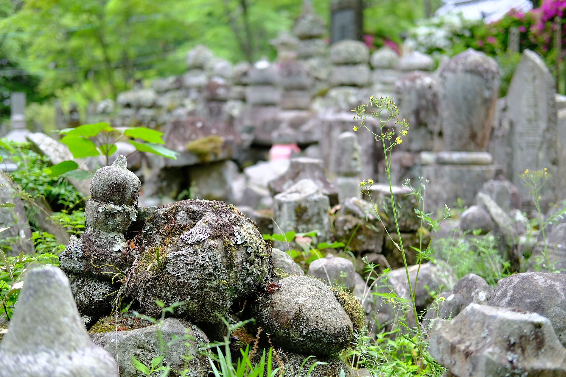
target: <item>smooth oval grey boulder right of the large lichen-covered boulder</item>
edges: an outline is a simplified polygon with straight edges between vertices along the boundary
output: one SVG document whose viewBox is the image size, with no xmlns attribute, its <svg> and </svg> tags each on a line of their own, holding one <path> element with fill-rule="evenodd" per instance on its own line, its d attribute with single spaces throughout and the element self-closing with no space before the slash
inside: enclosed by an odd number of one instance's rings
<svg viewBox="0 0 566 377">
<path fill-rule="evenodd" d="M 261 294 L 250 309 L 273 344 L 314 356 L 350 345 L 354 326 L 327 285 L 307 276 L 289 276 L 278 283 L 279 289 Z"/>
</svg>

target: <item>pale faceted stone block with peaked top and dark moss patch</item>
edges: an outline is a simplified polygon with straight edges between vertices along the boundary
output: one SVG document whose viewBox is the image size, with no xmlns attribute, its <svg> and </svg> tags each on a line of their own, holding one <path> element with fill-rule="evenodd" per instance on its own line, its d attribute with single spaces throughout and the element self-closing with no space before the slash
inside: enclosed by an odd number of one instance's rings
<svg viewBox="0 0 566 377">
<path fill-rule="evenodd" d="M 299 180 L 297 183 L 273 197 L 275 223 L 273 229 L 280 232 L 316 231 L 318 240 L 330 240 L 330 220 L 328 197 L 313 181 Z M 285 248 L 286 244 L 277 244 Z"/>
</svg>

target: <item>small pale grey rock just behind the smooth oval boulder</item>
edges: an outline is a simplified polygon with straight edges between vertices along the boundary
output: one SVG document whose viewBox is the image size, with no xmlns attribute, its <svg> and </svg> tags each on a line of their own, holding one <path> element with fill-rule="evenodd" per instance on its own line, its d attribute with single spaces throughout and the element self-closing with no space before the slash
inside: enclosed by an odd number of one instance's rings
<svg viewBox="0 0 566 377">
<path fill-rule="evenodd" d="M 354 263 L 346 258 L 328 254 L 325 258 L 315 259 L 308 266 L 308 275 L 324 280 L 329 285 L 344 286 L 353 291 L 355 287 Z"/>
</svg>

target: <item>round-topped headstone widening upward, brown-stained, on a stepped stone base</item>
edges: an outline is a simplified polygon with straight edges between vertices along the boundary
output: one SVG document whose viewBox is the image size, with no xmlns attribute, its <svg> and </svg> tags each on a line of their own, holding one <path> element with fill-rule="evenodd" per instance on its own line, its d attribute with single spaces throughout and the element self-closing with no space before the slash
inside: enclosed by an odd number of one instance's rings
<svg viewBox="0 0 566 377">
<path fill-rule="evenodd" d="M 441 68 L 438 83 L 443 151 L 422 169 L 430 181 L 427 201 L 435 207 L 458 200 L 471 205 L 483 183 L 495 177 L 493 157 L 486 149 L 499 94 L 499 67 L 494 59 L 468 49 Z"/>
</svg>

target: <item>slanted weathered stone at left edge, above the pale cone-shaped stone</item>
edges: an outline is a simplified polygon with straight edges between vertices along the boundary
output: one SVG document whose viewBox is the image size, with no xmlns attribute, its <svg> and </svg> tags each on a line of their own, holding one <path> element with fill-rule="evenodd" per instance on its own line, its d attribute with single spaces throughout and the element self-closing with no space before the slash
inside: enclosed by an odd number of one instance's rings
<svg viewBox="0 0 566 377">
<path fill-rule="evenodd" d="M 7 228 L 0 232 L 0 238 L 11 237 L 11 250 L 7 255 L 18 255 L 20 252 L 33 254 L 33 242 L 30 241 L 32 231 L 29 228 L 28 218 L 25 216 L 25 207 L 22 198 L 18 196 L 18 189 L 10 177 L 0 172 L 0 204 L 14 203 L 13 208 L 0 208 L 0 228 Z"/>
</svg>

